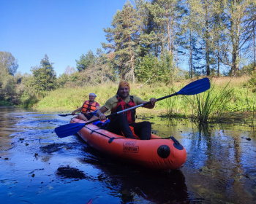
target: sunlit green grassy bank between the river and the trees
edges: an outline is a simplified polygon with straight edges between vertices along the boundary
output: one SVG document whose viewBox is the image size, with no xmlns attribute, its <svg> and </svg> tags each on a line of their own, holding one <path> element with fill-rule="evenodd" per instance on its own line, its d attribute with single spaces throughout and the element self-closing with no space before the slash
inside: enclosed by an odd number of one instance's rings
<svg viewBox="0 0 256 204">
<path fill-rule="evenodd" d="M 211 79 L 211 89 L 205 93 L 200 93 L 199 95 L 178 95 L 172 98 L 167 98 L 156 103 L 155 109 L 138 109 L 138 113 L 162 113 L 181 116 L 190 116 L 195 114 L 195 107 L 198 106 L 198 98 L 202 101 L 206 100 L 206 97 L 210 97 L 214 101 L 214 98 L 218 98 L 222 94 L 222 101 L 215 101 L 214 106 L 211 107 L 211 114 L 209 117 L 219 114 L 219 111 L 223 113 L 254 113 L 255 111 L 255 93 L 246 87 L 248 82 L 248 77 L 241 78 L 230 78 L 230 77 L 220 77 Z M 193 79 L 195 81 L 195 79 Z M 161 98 L 162 96 L 175 93 L 181 90 L 182 87 L 192 82 L 191 80 L 186 80 L 182 82 L 176 82 L 173 85 L 165 84 L 155 84 L 155 85 L 141 85 L 135 84 L 130 85 L 131 95 L 138 95 L 143 100 L 148 101 L 149 98 Z M 35 108 L 37 109 L 48 109 L 54 111 L 67 111 L 70 112 L 77 109 L 82 105 L 83 101 L 89 98 L 89 93 L 96 93 L 97 102 L 102 106 L 105 101 L 116 95 L 118 84 L 108 83 L 105 85 L 97 86 L 87 86 L 87 87 L 76 87 L 73 89 L 64 88 L 59 90 L 54 90 L 48 93 L 45 98 L 42 98 Z M 210 92 L 210 93 L 208 93 Z M 219 103 L 223 103 L 225 100 L 226 93 L 230 94 L 230 99 L 226 101 L 225 106 L 219 107 Z M 208 99 L 209 100 L 209 99 Z M 208 102 L 211 102 L 209 100 Z M 215 104 L 216 103 L 216 104 Z M 221 109 L 221 110 L 220 110 Z"/>
</svg>

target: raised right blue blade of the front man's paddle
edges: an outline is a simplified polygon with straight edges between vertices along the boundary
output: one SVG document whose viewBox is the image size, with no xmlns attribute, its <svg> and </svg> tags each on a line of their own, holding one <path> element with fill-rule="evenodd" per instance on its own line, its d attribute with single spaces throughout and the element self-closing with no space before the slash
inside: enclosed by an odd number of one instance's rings
<svg viewBox="0 0 256 204">
<path fill-rule="evenodd" d="M 210 80 L 208 78 L 203 78 L 195 82 L 191 82 L 189 85 L 183 87 L 177 93 L 178 95 L 195 95 L 208 90 L 210 87 Z"/>
</svg>

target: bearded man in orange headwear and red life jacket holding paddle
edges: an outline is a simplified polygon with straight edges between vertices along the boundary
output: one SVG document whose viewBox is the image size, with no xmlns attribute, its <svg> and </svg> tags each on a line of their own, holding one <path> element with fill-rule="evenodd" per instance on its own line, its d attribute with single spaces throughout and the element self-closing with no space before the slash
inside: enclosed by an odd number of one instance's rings
<svg viewBox="0 0 256 204">
<path fill-rule="evenodd" d="M 146 102 L 147 101 L 143 101 L 137 96 L 129 95 L 129 83 L 122 81 L 118 85 L 117 95 L 109 98 L 104 106 L 97 111 L 96 115 L 100 120 L 105 120 L 105 112 L 108 110 L 113 114 Z M 157 99 L 151 98 L 150 102 L 151 103 L 143 107 L 153 109 Z M 126 138 L 135 138 L 131 127 L 134 130 L 135 135 L 139 136 L 140 139 L 148 140 L 151 138 L 151 123 L 147 121 L 135 123 L 135 109 L 125 111 L 122 114 L 117 114 L 117 116 L 110 118 L 109 131 L 112 133 L 124 135 Z"/>
</svg>

